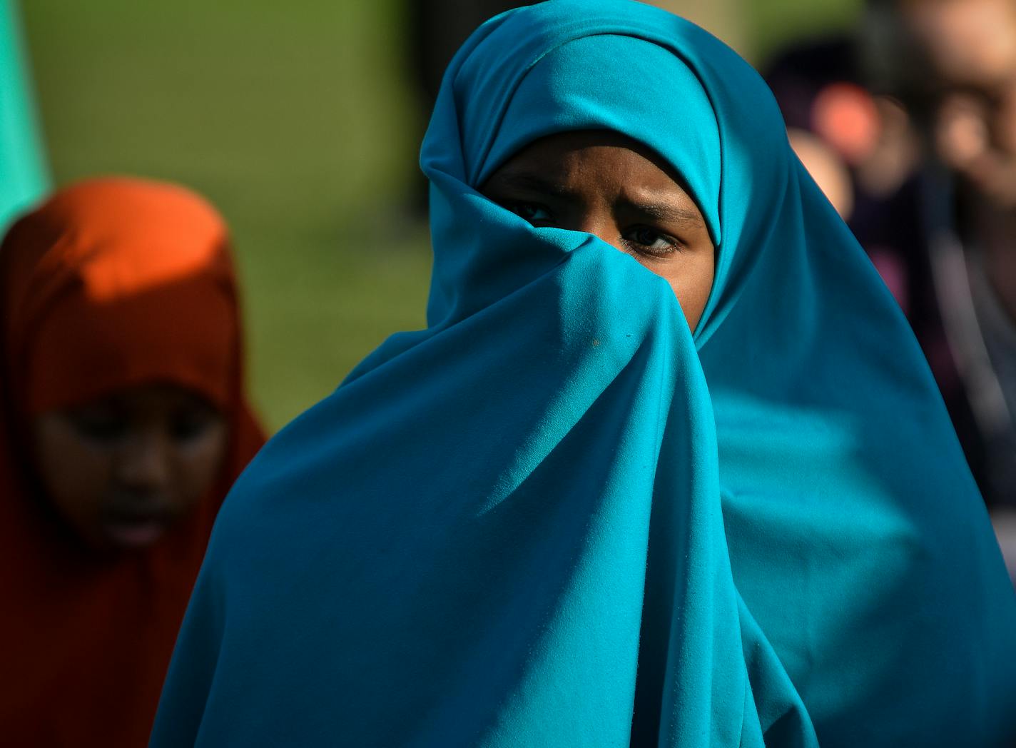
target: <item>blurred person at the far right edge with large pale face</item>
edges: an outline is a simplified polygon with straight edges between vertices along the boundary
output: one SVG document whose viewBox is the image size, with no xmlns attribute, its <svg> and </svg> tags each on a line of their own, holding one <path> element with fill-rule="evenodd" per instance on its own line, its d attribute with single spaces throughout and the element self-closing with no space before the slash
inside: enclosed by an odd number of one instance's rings
<svg viewBox="0 0 1016 748">
<path fill-rule="evenodd" d="M 928 172 L 924 215 L 956 389 L 973 417 L 958 431 L 1016 573 L 1016 3 L 873 8 L 900 30 L 904 53 L 884 56 L 944 167 Z"/>
</svg>

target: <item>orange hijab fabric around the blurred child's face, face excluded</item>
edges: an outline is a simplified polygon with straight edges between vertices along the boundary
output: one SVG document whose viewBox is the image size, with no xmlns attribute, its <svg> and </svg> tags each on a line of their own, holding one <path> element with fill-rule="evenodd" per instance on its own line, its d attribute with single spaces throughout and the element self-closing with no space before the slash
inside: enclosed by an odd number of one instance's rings
<svg viewBox="0 0 1016 748">
<path fill-rule="evenodd" d="M 0 247 L 0 742 L 143 746 L 218 506 L 263 442 L 244 399 L 227 229 L 180 187 L 57 193 Z M 214 402 L 231 446 L 212 494 L 149 549 L 70 542 L 27 469 L 26 424 L 161 381 Z"/>
</svg>

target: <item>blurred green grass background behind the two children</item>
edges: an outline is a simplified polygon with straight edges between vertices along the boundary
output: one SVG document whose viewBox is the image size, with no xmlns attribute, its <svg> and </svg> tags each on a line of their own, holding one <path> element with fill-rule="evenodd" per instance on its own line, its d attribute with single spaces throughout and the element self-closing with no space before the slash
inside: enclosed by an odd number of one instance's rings
<svg viewBox="0 0 1016 748">
<path fill-rule="evenodd" d="M 861 0 L 725 4 L 699 20 L 757 63 L 850 23 Z M 405 7 L 21 3 L 56 184 L 174 180 L 229 221 L 250 384 L 270 429 L 388 334 L 424 325 L 430 250 L 409 205 L 426 117 L 407 75 Z"/>
</svg>

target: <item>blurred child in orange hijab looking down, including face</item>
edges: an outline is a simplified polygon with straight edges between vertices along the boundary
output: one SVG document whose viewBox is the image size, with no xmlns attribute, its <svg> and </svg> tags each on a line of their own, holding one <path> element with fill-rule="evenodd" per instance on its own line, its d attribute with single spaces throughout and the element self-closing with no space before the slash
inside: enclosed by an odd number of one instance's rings
<svg viewBox="0 0 1016 748">
<path fill-rule="evenodd" d="M 0 248 L 0 742 L 143 746 L 244 399 L 227 229 L 180 187 L 58 192 Z"/>
</svg>

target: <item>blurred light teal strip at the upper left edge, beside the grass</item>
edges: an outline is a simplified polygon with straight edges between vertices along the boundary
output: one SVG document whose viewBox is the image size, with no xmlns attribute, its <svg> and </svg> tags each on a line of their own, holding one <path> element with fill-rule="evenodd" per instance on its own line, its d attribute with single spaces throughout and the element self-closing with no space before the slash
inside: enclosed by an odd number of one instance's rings
<svg viewBox="0 0 1016 748">
<path fill-rule="evenodd" d="M 0 236 L 49 189 L 13 0 L 0 0 Z"/>
</svg>

